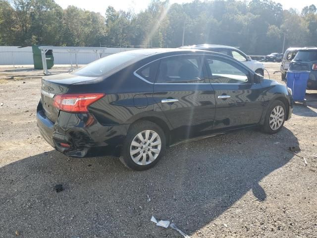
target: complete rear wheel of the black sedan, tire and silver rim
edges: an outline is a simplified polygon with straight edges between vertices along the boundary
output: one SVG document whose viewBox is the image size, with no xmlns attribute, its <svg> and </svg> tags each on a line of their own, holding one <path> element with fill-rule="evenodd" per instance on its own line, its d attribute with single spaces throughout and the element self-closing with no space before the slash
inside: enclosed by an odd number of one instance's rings
<svg viewBox="0 0 317 238">
<path fill-rule="evenodd" d="M 165 143 L 164 132 L 156 123 L 138 121 L 128 131 L 120 161 L 131 170 L 148 170 L 159 162 Z"/>
</svg>

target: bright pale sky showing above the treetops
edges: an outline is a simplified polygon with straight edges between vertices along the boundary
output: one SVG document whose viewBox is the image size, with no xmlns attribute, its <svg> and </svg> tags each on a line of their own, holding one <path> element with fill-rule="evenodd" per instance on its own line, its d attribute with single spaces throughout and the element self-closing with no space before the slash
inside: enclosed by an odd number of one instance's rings
<svg viewBox="0 0 317 238">
<path fill-rule="evenodd" d="M 68 5 L 74 5 L 86 10 L 100 12 L 105 14 L 107 6 L 111 5 L 116 10 L 134 9 L 135 13 L 144 10 L 151 0 L 55 0 L 62 8 L 67 8 Z M 185 3 L 193 0 L 170 0 L 170 3 Z M 316 0 L 273 0 L 283 5 L 284 9 L 296 8 L 299 11 L 304 6 L 311 5 Z"/>
</svg>

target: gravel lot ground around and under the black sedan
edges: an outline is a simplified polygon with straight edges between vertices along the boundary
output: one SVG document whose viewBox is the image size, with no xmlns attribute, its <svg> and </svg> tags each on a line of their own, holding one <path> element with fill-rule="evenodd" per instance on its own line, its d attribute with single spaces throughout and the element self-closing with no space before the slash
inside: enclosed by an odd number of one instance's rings
<svg viewBox="0 0 317 238">
<path fill-rule="evenodd" d="M 265 66 L 280 79 L 278 63 Z M 114 157 L 54 151 L 36 126 L 41 71 L 17 70 L 0 69 L 1 238 L 181 238 L 152 215 L 192 238 L 317 237 L 317 91 L 278 134 L 181 144 L 132 172 Z M 287 151 L 298 144 L 307 166 Z"/>
</svg>

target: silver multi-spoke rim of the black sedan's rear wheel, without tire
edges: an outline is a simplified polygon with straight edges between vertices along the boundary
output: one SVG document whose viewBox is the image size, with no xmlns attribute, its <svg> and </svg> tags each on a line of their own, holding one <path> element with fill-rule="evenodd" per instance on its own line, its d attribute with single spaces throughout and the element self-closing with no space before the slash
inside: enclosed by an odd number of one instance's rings
<svg viewBox="0 0 317 238">
<path fill-rule="evenodd" d="M 130 156 L 138 165 L 148 165 L 158 158 L 161 150 L 159 134 L 154 130 L 143 130 L 138 133 L 130 145 Z"/>
</svg>

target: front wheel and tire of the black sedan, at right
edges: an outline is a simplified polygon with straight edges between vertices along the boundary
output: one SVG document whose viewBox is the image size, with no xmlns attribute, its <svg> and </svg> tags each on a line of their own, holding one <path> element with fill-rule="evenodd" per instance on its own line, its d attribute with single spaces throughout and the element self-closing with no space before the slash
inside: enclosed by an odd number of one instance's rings
<svg viewBox="0 0 317 238">
<path fill-rule="evenodd" d="M 284 125 L 286 108 L 279 100 L 274 101 L 267 109 L 262 131 L 267 134 L 277 133 Z"/>
</svg>

